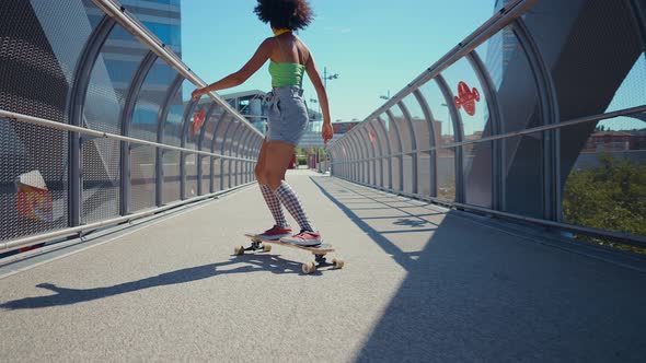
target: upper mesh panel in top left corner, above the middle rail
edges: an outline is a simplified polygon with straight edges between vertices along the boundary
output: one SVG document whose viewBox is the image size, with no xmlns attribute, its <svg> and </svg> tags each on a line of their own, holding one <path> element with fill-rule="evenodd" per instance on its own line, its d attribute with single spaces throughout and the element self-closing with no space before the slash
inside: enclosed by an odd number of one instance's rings
<svg viewBox="0 0 646 363">
<path fill-rule="evenodd" d="M 0 108 L 67 122 L 73 71 L 95 25 L 85 8 L 0 1 Z"/>
</svg>

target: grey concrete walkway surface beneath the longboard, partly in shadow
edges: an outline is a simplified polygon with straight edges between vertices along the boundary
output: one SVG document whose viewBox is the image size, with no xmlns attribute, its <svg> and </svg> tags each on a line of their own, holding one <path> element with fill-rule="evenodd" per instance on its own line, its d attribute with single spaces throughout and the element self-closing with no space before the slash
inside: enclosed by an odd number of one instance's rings
<svg viewBox="0 0 646 363">
<path fill-rule="evenodd" d="M 343 270 L 232 256 L 257 187 L 0 280 L 0 359 L 639 361 L 646 274 L 310 172 L 288 182 Z"/>
</svg>

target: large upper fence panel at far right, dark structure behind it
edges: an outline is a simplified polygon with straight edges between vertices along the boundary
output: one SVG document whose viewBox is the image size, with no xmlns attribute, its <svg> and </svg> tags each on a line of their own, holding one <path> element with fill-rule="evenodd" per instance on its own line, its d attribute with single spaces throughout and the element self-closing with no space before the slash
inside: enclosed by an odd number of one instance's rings
<svg viewBox="0 0 646 363">
<path fill-rule="evenodd" d="M 562 120 L 644 104 L 644 69 L 635 66 L 645 49 L 630 3 L 543 0 L 523 16 L 554 80 Z M 545 26 L 550 13 L 558 13 L 554 26 Z M 623 83 L 630 91 L 618 94 Z"/>
</svg>

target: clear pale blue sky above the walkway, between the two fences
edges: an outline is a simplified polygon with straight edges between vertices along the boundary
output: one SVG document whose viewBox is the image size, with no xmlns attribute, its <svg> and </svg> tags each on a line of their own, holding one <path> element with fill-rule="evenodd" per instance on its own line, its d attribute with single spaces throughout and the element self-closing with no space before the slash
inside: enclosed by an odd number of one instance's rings
<svg viewBox="0 0 646 363">
<path fill-rule="evenodd" d="M 494 0 L 311 0 L 315 19 L 298 36 L 327 81 L 332 120 L 364 120 L 493 15 Z M 182 58 L 208 83 L 239 70 L 272 36 L 256 0 L 182 1 Z M 305 101 L 316 98 L 309 79 Z M 220 94 L 270 90 L 267 65 Z M 310 104 L 311 106 L 314 104 Z"/>
</svg>

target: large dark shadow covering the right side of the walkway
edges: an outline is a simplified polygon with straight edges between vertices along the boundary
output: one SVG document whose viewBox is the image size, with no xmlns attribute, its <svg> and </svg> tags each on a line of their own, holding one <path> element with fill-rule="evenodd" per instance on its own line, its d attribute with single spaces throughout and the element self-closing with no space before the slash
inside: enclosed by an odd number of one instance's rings
<svg viewBox="0 0 646 363">
<path fill-rule="evenodd" d="M 407 271 L 357 362 L 644 361 L 645 274 L 523 243 L 454 212 L 411 260 L 335 199 L 364 187 L 313 182 Z"/>
</svg>

